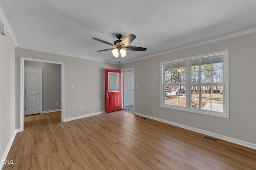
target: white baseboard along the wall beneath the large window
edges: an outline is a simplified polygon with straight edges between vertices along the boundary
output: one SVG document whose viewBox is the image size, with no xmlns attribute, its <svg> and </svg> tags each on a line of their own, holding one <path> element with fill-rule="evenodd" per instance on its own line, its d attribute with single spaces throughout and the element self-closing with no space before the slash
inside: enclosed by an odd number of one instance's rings
<svg viewBox="0 0 256 170">
<path fill-rule="evenodd" d="M 177 126 L 177 127 L 181 127 L 181 128 L 184 128 L 184 129 L 188 129 L 190 131 L 202 133 L 204 135 L 209 135 L 211 137 L 216 137 L 218 139 L 222 139 L 224 141 L 228 141 L 228 142 L 231 142 L 231 143 L 242 145 L 244 147 L 248 147 L 248 148 L 251 148 L 251 149 L 256 149 L 256 144 L 254 144 L 254 143 L 249 143 L 249 142 L 246 142 L 246 141 L 241 141 L 239 139 L 234 139 L 234 138 L 227 137 L 227 136 L 224 136 L 224 135 L 219 135 L 217 133 L 212 133 L 212 132 L 209 132 L 209 131 L 205 131 L 205 130 L 202 130 L 202 129 L 197 129 L 197 128 L 194 128 L 194 127 L 182 125 L 180 123 L 175 123 L 175 122 L 164 120 L 164 119 L 160 119 L 160 118 L 157 118 L 157 117 L 153 117 L 153 116 L 149 116 L 149 115 L 144 115 L 142 113 L 135 112 L 135 114 L 143 116 L 143 117 L 147 117 L 149 119 L 153 119 L 153 120 L 156 120 L 156 121 L 160 121 L 160 122 L 163 122 L 163 123 L 167 123 L 167 124 L 170 124 L 170 125 L 174 125 L 174 126 Z"/>
</svg>

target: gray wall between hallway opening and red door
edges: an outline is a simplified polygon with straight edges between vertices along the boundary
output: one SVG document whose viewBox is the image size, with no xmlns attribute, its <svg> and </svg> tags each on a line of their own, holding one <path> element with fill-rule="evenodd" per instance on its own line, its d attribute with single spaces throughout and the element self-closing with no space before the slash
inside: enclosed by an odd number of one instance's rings
<svg viewBox="0 0 256 170">
<path fill-rule="evenodd" d="M 105 110 L 104 69 L 117 70 L 117 65 L 18 47 L 15 55 L 16 129 L 20 128 L 20 57 L 64 63 L 64 119 Z M 73 89 L 70 84 L 74 85 Z M 100 104 L 99 108 L 97 104 Z M 80 106 L 83 106 L 82 110 Z"/>
</svg>

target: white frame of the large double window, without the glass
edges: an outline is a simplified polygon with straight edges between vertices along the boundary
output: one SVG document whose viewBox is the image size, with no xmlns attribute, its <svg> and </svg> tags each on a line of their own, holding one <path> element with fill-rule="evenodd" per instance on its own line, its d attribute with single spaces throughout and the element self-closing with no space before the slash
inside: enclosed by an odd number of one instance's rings
<svg viewBox="0 0 256 170">
<path fill-rule="evenodd" d="M 190 61 L 196 60 L 196 59 L 208 59 L 208 58 L 214 58 L 218 55 L 223 55 L 223 83 L 211 83 L 212 86 L 223 86 L 223 112 L 218 111 L 210 111 L 210 110 L 204 110 L 204 109 L 195 109 L 192 108 L 190 105 L 190 97 L 192 96 L 192 92 L 190 90 L 191 85 L 194 85 L 191 83 L 191 67 L 190 67 Z M 182 59 L 174 59 L 170 61 L 164 61 L 160 63 L 161 68 L 161 88 L 160 88 L 160 97 L 161 97 L 161 106 L 168 109 L 176 109 L 181 111 L 187 111 L 192 113 L 199 113 L 203 115 L 210 115 L 215 117 L 223 117 L 229 119 L 229 65 L 228 65 L 228 58 L 229 58 L 229 51 L 218 51 L 214 53 L 208 53 L 204 55 L 197 55 L 192 57 L 186 57 Z M 184 106 L 174 106 L 174 105 L 168 105 L 165 104 L 165 65 L 166 64 L 172 64 L 172 63 L 181 63 L 186 61 L 186 107 Z M 200 83 L 202 84 L 202 83 Z"/>
</svg>

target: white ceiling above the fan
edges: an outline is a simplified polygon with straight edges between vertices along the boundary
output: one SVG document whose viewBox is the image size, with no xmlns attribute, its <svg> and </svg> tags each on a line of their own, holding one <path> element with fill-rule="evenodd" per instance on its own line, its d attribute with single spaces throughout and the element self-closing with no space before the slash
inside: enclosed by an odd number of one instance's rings
<svg viewBox="0 0 256 170">
<path fill-rule="evenodd" d="M 118 62 L 256 28 L 256 0 L 0 0 L 17 47 L 107 63 L 116 34 L 137 38 Z"/>
</svg>

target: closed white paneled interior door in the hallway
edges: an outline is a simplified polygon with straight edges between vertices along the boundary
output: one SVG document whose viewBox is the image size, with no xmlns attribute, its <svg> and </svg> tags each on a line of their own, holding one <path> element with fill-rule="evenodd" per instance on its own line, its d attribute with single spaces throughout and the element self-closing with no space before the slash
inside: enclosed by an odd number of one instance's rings
<svg viewBox="0 0 256 170">
<path fill-rule="evenodd" d="M 41 112 L 42 68 L 25 67 L 25 115 Z"/>
</svg>

